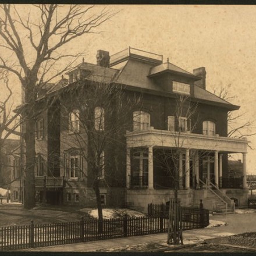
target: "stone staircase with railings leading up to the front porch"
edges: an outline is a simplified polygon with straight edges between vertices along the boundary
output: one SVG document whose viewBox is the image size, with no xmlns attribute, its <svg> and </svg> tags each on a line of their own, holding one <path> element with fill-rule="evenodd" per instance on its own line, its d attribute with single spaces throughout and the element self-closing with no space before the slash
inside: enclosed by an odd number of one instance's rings
<svg viewBox="0 0 256 256">
<path fill-rule="evenodd" d="M 215 214 L 234 214 L 234 201 L 232 199 L 227 197 L 209 180 L 206 183 L 202 182 L 202 180 L 200 182 L 207 189 L 207 197 L 204 201 L 212 205 L 212 211 Z"/>
</svg>

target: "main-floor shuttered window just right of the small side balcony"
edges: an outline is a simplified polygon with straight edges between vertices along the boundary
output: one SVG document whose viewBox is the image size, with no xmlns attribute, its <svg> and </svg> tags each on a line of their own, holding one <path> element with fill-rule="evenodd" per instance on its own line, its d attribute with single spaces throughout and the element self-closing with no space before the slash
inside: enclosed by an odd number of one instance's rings
<svg viewBox="0 0 256 256">
<path fill-rule="evenodd" d="M 65 158 L 65 173 L 67 179 L 78 180 L 81 178 L 81 172 L 83 170 L 83 157 L 78 149 L 67 150 L 64 154 Z"/>
</svg>

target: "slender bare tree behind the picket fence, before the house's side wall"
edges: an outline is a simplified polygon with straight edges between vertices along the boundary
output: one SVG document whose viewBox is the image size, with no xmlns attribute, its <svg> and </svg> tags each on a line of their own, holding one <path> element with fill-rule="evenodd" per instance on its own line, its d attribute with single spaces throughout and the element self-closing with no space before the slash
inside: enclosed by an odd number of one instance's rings
<svg viewBox="0 0 256 256">
<path fill-rule="evenodd" d="M 126 159 L 122 159 L 126 152 L 125 133 L 131 128 L 132 112 L 138 106 L 140 97 L 127 94 L 125 87 L 111 81 L 80 80 L 66 87 L 62 95 L 65 93 L 72 102 L 64 99 L 62 118 L 68 116 L 72 137 L 63 139 L 62 143 L 66 148 L 79 149 L 87 168 L 67 162 L 67 158 L 65 165 L 70 166 L 69 175 L 75 176 L 74 172 L 79 171 L 86 182 L 90 179 L 85 186 L 93 187 L 95 192 L 98 231 L 102 232 L 99 188 L 113 185 L 125 187 L 125 179 L 122 179 L 126 169 Z"/>
</svg>

